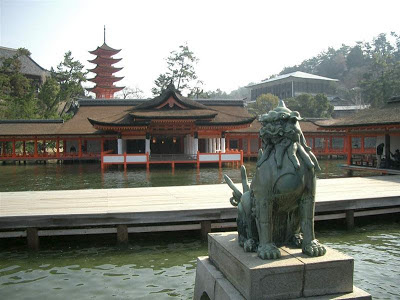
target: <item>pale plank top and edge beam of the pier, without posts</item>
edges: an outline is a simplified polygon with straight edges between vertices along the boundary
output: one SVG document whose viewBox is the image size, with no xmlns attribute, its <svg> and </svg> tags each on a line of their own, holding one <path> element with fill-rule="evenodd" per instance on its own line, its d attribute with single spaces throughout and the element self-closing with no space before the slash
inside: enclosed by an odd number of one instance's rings
<svg viewBox="0 0 400 300">
<path fill-rule="evenodd" d="M 226 184 L 6 192 L 0 229 L 229 219 L 236 217 L 230 196 Z M 316 201 L 319 213 L 399 206 L 400 176 L 320 179 Z"/>
</svg>

